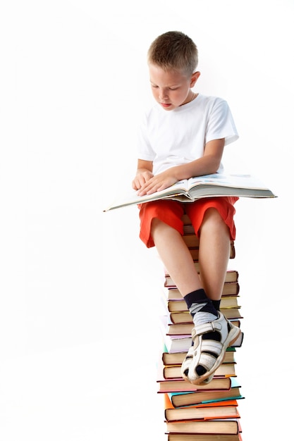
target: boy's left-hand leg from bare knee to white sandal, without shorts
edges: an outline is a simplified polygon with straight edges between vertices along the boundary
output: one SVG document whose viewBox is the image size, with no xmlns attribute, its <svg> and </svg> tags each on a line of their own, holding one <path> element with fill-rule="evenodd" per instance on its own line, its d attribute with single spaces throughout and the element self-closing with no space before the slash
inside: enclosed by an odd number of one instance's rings
<svg viewBox="0 0 294 441">
<path fill-rule="evenodd" d="M 209 382 L 223 360 L 224 352 L 228 347 L 226 342 L 228 339 L 231 342 L 231 337 L 228 335 L 231 327 L 227 328 L 226 319 L 219 316 L 212 301 L 205 294 L 190 251 L 180 233 L 157 218 L 152 221 L 151 233 L 164 266 L 187 302 L 195 330 L 197 331 L 198 328 L 203 330 L 201 337 L 195 333 L 193 341 L 198 341 L 199 338 L 201 341 L 188 353 L 182 368 L 183 377 L 194 384 L 200 384 L 204 380 Z M 217 299 L 216 305 L 218 305 Z M 226 327 L 222 334 L 217 330 L 219 326 Z M 194 356 L 195 351 L 198 354 L 197 358 Z"/>
</svg>

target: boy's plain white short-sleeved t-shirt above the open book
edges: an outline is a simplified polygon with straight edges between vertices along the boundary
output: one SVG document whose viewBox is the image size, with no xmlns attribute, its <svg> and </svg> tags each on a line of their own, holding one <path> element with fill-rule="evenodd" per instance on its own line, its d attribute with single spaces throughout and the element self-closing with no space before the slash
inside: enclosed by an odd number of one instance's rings
<svg viewBox="0 0 294 441">
<path fill-rule="evenodd" d="M 140 126 L 138 158 L 153 161 L 156 175 L 201 158 L 205 144 L 221 138 L 225 138 L 225 145 L 238 139 L 231 110 L 223 99 L 198 94 L 173 111 L 156 104 L 145 113 Z"/>
</svg>

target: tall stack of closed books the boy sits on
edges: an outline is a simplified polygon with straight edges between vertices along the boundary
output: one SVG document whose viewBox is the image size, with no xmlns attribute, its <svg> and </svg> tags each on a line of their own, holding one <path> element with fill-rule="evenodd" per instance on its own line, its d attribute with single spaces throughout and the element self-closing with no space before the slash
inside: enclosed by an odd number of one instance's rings
<svg viewBox="0 0 294 441">
<path fill-rule="evenodd" d="M 199 241 L 188 216 L 183 217 L 184 236 L 198 269 Z M 235 257 L 231 242 L 231 259 Z M 228 270 L 221 297 L 221 312 L 240 327 L 240 285 L 238 271 Z M 159 354 L 157 385 L 164 395 L 164 421 L 168 441 L 242 441 L 238 400 L 243 399 L 236 373 L 235 354 L 243 342 L 226 350 L 223 363 L 207 385 L 192 385 L 183 380 L 180 366 L 192 344 L 194 326 L 185 300 L 168 273 L 161 287 L 160 328 L 163 350 Z"/>
</svg>

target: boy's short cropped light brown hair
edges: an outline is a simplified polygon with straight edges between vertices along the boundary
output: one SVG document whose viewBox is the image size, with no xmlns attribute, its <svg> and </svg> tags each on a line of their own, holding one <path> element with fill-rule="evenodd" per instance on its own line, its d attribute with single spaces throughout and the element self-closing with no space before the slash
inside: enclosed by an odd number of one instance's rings
<svg viewBox="0 0 294 441">
<path fill-rule="evenodd" d="M 197 46 L 183 32 L 165 32 L 154 39 L 149 47 L 147 63 L 164 70 L 177 70 L 192 75 L 198 64 Z"/>
</svg>

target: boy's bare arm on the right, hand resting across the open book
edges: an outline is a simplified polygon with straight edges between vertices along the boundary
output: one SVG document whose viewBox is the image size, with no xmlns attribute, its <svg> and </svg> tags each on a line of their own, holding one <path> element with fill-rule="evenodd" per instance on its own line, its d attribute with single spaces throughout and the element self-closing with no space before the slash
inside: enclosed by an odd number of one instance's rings
<svg viewBox="0 0 294 441">
<path fill-rule="evenodd" d="M 138 194 L 140 196 L 143 196 L 144 194 L 152 194 L 164 190 L 167 187 L 171 187 L 171 185 L 182 179 L 216 173 L 221 164 L 224 144 L 224 138 L 214 139 L 207 142 L 204 148 L 204 155 L 201 158 L 195 159 L 195 161 L 191 161 L 181 166 L 171 167 L 168 170 L 149 178 L 149 180 L 145 180 L 145 182 L 142 182 L 141 186 L 137 188 L 137 190 L 140 189 Z"/>
</svg>

